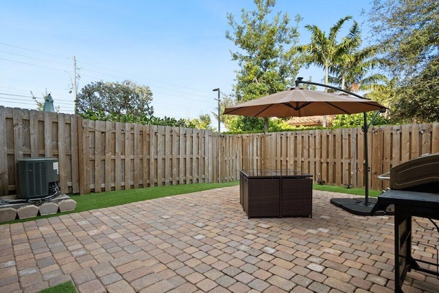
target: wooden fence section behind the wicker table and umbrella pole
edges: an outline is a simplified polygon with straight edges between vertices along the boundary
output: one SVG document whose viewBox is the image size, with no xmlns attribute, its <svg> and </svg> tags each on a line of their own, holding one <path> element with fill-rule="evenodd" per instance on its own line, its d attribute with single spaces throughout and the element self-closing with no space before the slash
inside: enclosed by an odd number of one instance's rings
<svg viewBox="0 0 439 293">
<path fill-rule="evenodd" d="M 227 136 L 226 139 L 233 139 L 230 144 L 234 145 L 226 152 L 234 153 L 233 158 L 223 154 L 223 165 L 233 163 L 243 169 L 297 169 L 312 174 L 315 182 L 322 180 L 329 185 L 365 186 L 364 132 L 361 128 L 241 134 Z M 379 180 L 378 175 L 417 156 L 435 152 L 439 152 L 439 124 L 370 128 L 370 187 L 375 190 L 387 188 L 388 182 Z M 228 172 L 234 170 L 235 167 Z M 230 179 L 236 178 L 233 176 Z"/>
</svg>

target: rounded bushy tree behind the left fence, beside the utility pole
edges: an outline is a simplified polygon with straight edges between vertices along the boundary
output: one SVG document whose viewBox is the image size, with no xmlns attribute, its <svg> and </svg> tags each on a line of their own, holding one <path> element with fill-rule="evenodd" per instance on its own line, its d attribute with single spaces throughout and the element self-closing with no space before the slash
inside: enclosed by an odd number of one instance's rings
<svg viewBox="0 0 439 293">
<path fill-rule="evenodd" d="M 78 93 L 75 113 L 102 111 L 105 114 L 152 115 L 152 91 L 130 80 L 123 82 L 92 82 Z"/>
</svg>

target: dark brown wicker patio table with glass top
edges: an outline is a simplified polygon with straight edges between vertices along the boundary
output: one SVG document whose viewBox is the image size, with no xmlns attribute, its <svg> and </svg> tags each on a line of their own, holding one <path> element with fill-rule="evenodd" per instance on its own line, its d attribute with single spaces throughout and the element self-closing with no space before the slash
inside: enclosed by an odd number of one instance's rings
<svg viewBox="0 0 439 293">
<path fill-rule="evenodd" d="M 312 217 L 312 175 L 293 169 L 239 170 L 239 201 L 248 218 Z"/>
</svg>

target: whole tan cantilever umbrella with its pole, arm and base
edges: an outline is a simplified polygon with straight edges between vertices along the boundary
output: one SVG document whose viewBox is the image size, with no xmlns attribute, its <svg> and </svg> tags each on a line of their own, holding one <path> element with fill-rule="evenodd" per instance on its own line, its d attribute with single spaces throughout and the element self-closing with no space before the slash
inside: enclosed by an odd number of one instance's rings
<svg viewBox="0 0 439 293">
<path fill-rule="evenodd" d="M 309 89 L 303 89 L 300 86 L 296 86 L 287 91 L 281 91 L 273 93 L 259 99 L 252 99 L 251 101 L 237 104 L 235 106 L 227 107 L 224 110 L 224 114 L 227 115 L 243 115 L 250 117 L 305 117 L 315 115 L 334 115 L 334 114 L 354 114 L 364 113 L 364 157 L 365 157 L 365 169 L 364 181 L 366 183 L 365 188 L 365 200 L 363 202 L 357 202 L 357 200 L 348 199 L 333 199 L 331 202 L 336 204 L 351 213 L 357 215 L 368 215 L 372 207 L 368 202 L 368 141 L 367 132 L 368 127 L 372 123 L 373 119 L 377 117 L 379 112 L 385 112 L 385 106 L 379 103 L 361 97 L 355 93 L 351 93 L 342 89 L 337 89 L 333 86 L 324 84 L 317 84 L 313 82 L 302 82 L 299 78 L 296 81 L 298 83 L 316 84 L 319 86 L 326 86 L 337 91 L 349 93 L 337 94 L 337 93 L 325 93 L 322 91 L 312 91 Z M 366 112 L 377 111 L 375 117 L 368 124 L 366 121 Z"/>
</svg>

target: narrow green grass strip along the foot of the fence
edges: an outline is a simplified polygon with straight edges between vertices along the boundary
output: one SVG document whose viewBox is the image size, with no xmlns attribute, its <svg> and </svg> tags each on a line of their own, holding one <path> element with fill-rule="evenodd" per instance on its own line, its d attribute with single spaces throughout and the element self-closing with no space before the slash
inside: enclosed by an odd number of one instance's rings
<svg viewBox="0 0 439 293">
<path fill-rule="evenodd" d="M 12 224 L 16 222 L 27 222 L 30 220 L 37 220 L 41 218 L 56 217 L 58 215 L 64 215 L 67 213 L 79 213 L 81 211 L 89 211 L 92 209 L 102 209 L 105 207 L 115 207 L 121 204 L 128 204 L 130 202 L 139 202 L 141 200 L 151 200 L 154 198 L 162 198 L 164 196 L 175 196 L 178 194 L 189 194 L 196 191 L 204 191 L 209 189 L 215 189 L 219 187 L 230 187 L 239 185 L 238 181 L 230 181 L 226 183 L 195 183 L 186 185 L 169 185 L 169 186 L 157 186 L 147 187 L 140 189 L 130 189 L 121 191 L 108 191 L 101 192 L 99 194 L 86 194 L 83 196 L 70 196 L 71 199 L 76 202 L 75 211 L 66 211 L 64 213 L 56 213 L 54 215 L 38 215 L 35 218 L 14 220 L 10 222 L 3 222 L 0 224 Z M 330 186 L 330 185 L 313 185 L 313 189 L 323 191 L 340 192 L 343 194 L 353 194 L 357 196 L 364 196 L 364 189 Z M 370 196 L 379 196 L 381 191 L 370 190 Z"/>
</svg>

